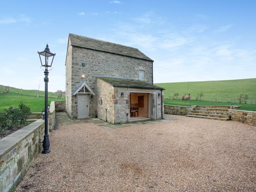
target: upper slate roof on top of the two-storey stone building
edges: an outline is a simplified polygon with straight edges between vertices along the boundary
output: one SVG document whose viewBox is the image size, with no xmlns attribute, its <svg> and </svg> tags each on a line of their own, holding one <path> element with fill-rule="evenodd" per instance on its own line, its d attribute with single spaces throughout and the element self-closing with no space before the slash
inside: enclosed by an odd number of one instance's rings
<svg viewBox="0 0 256 192">
<path fill-rule="evenodd" d="M 93 39 L 89 37 L 79 36 L 75 34 L 69 34 L 71 45 L 79 46 L 82 48 L 88 48 L 92 50 L 98 50 L 133 58 L 139 58 L 143 60 L 153 61 L 148 56 L 140 52 L 138 49 L 133 47 L 128 47 L 120 44 L 115 44 L 111 42 L 106 42 L 98 39 Z"/>
</svg>

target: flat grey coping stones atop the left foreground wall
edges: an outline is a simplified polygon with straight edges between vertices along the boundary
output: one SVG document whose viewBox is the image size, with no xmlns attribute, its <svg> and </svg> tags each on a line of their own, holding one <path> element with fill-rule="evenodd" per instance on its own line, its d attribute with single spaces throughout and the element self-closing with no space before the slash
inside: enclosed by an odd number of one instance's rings
<svg viewBox="0 0 256 192">
<path fill-rule="evenodd" d="M 34 132 L 34 130 L 37 129 L 42 124 L 44 124 L 44 120 L 37 120 L 17 130 L 16 132 L 6 136 L 5 138 L 2 138 L 0 140 L 0 158 L 2 158 L 2 156 L 4 156 L 6 153 L 12 150 L 15 146 L 17 146 L 21 140 L 23 140 L 32 132 Z"/>
</svg>

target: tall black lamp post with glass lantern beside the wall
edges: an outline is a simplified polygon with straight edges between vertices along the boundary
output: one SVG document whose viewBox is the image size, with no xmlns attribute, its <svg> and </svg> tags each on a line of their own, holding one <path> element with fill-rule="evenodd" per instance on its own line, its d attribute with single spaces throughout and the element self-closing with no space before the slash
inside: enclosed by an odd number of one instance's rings
<svg viewBox="0 0 256 192">
<path fill-rule="evenodd" d="M 44 150 L 42 151 L 42 153 L 46 154 L 46 153 L 50 153 L 51 150 L 50 148 L 50 140 L 48 137 L 48 68 L 50 68 L 50 70 L 52 70 L 52 62 L 55 56 L 55 53 L 50 52 L 49 46 L 48 44 L 46 45 L 46 48 L 44 49 L 44 51 L 42 52 L 38 52 L 39 54 L 39 58 L 40 58 L 40 62 L 41 62 L 41 68 L 44 67 L 44 82 L 45 82 L 45 88 L 44 88 L 44 141 L 43 141 L 43 148 Z M 41 56 L 45 57 L 45 63 L 42 63 L 42 59 Z M 50 59 L 52 58 L 52 60 L 50 61 Z"/>
</svg>

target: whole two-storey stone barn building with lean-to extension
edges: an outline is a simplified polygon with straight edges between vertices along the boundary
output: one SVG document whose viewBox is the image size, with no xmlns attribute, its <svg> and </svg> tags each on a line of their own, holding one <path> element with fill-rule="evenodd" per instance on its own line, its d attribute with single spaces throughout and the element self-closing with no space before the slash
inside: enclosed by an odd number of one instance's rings
<svg viewBox="0 0 256 192">
<path fill-rule="evenodd" d="M 136 48 L 69 34 L 66 111 L 70 118 L 112 124 L 163 118 L 163 88 L 153 60 Z"/>
</svg>

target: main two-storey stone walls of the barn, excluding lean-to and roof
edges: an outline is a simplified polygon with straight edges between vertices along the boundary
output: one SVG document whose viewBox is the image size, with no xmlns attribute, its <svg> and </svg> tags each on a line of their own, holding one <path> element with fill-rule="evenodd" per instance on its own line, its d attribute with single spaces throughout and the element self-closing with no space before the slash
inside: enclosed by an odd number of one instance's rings
<svg viewBox="0 0 256 192">
<path fill-rule="evenodd" d="M 82 66 L 85 63 L 85 66 Z M 144 71 L 145 81 L 153 84 L 153 62 L 121 56 L 97 50 L 90 50 L 68 45 L 66 60 L 66 111 L 71 118 L 77 117 L 77 96 L 72 92 L 80 83 L 85 82 L 98 95 L 97 76 L 130 78 L 139 80 L 139 71 Z M 85 75 L 83 78 L 82 75 Z M 98 100 L 89 104 L 89 116 L 97 115 Z"/>
</svg>

